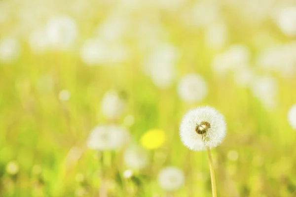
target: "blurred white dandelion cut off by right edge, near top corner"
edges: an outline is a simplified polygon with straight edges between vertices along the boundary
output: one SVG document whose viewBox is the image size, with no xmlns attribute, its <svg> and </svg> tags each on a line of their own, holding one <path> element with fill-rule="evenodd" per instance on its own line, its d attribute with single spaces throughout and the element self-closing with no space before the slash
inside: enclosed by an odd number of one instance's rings
<svg viewBox="0 0 296 197">
<path fill-rule="evenodd" d="M 274 19 L 283 33 L 296 35 L 296 6 L 280 8 L 274 14 Z"/>
</svg>

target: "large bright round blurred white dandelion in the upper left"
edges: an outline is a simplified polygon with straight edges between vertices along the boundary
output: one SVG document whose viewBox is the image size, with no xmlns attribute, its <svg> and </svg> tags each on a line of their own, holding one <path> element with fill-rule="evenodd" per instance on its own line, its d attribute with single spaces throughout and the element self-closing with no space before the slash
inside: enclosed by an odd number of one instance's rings
<svg viewBox="0 0 296 197">
<path fill-rule="evenodd" d="M 47 22 L 45 33 L 53 49 L 64 50 L 73 46 L 78 36 L 78 27 L 70 16 L 55 16 Z"/>
</svg>

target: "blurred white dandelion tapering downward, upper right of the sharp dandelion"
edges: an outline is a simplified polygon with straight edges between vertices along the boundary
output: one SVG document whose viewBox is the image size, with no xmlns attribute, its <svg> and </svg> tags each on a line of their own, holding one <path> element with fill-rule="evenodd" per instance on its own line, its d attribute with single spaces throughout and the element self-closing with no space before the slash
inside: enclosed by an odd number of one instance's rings
<svg viewBox="0 0 296 197">
<path fill-rule="evenodd" d="M 251 83 L 251 91 L 265 108 L 271 109 L 276 106 L 278 83 L 275 78 L 271 76 L 255 77 Z"/>
</svg>

